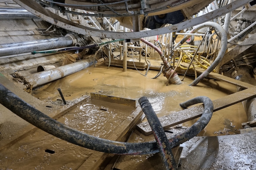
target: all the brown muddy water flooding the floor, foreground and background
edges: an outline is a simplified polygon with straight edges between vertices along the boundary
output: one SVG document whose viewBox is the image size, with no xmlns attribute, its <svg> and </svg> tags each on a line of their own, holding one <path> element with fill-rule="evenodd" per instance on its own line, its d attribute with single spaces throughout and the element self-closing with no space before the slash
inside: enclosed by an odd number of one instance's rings
<svg viewBox="0 0 256 170">
<path fill-rule="evenodd" d="M 146 96 L 151 102 L 157 115 L 175 114 L 182 110 L 179 103 L 196 96 L 205 95 L 211 100 L 222 98 L 236 92 L 236 87 L 227 83 L 205 79 L 197 86 L 189 86 L 193 77 L 186 77 L 182 85 L 168 85 L 167 79 L 157 75 L 157 71 L 149 70 L 148 75 L 142 76 L 135 69 L 123 72 L 122 68 L 107 65 L 89 67 L 73 75 L 57 80 L 33 91 L 32 95 L 42 101 L 61 105 L 61 97 L 57 88 L 61 88 L 68 104 L 81 96 L 97 92 L 121 98 L 138 99 Z M 145 74 L 146 71 L 141 71 Z M 131 113 L 133 108 L 110 104 L 108 102 L 91 102 L 88 98 L 81 105 L 75 106 L 57 121 L 90 135 L 107 138 Z M 214 112 L 207 127 L 199 134 L 214 136 L 237 134 L 241 123 L 246 122 L 246 114 L 241 103 Z M 193 121 L 183 126 L 191 126 Z M 230 129 L 230 130 L 225 130 Z M 152 138 L 151 138 L 152 140 Z M 129 142 L 143 142 L 138 135 L 132 135 Z M 49 153 L 49 152 L 54 152 Z M 8 148 L 0 150 L 0 169 L 84 169 L 84 162 L 93 154 L 92 150 L 73 145 L 57 137 L 34 128 L 33 133 L 24 136 L 19 142 L 14 141 Z M 151 163 L 153 168 L 161 164 L 157 154 L 129 157 L 129 169 L 144 169 L 143 162 Z M 32 160 L 33 159 L 33 160 Z M 132 160 L 136 159 L 136 160 Z M 122 161 L 121 158 L 119 161 Z M 154 161 L 153 161 L 154 160 Z M 127 160 L 126 160 L 127 161 Z M 93 162 L 93 161 L 92 161 Z M 134 163 L 138 162 L 138 164 Z M 161 166 L 158 166 L 161 167 Z M 86 169 L 86 168 L 85 168 Z M 156 168 L 158 169 L 158 168 Z"/>
</svg>

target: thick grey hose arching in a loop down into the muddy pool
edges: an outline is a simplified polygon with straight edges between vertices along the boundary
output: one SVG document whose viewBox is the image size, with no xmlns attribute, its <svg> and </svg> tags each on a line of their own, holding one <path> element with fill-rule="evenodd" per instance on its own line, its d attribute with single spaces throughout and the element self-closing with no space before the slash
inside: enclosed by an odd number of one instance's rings
<svg viewBox="0 0 256 170">
<path fill-rule="evenodd" d="M 216 30 L 219 31 L 219 34 L 221 36 L 221 48 L 219 50 L 219 54 L 217 56 L 217 58 L 214 60 L 214 62 L 211 64 L 211 66 L 208 67 L 208 69 L 206 69 L 200 76 L 198 76 L 190 85 L 191 86 L 195 86 L 197 85 L 197 83 L 199 83 L 200 80 L 203 80 L 208 74 L 210 74 L 210 72 L 212 72 L 212 70 L 217 67 L 217 65 L 220 63 L 220 61 L 222 60 L 225 52 L 226 52 L 226 48 L 227 48 L 227 34 L 226 31 L 223 29 L 223 27 L 215 22 L 205 22 L 203 24 L 197 25 L 194 29 L 192 29 L 189 33 L 195 33 L 198 30 L 200 30 L 203 27 L 214 27 Z M 190 37 L 190 35 L 186 35 L 179 43 L 176 44 L 176 46 L 174 47 L 174 49 L 178 48 L 179 46 L 181 46 L 183 43 L 185 43 L 185 41 L 187 41 L 187 39 Z"/>
</svg>

